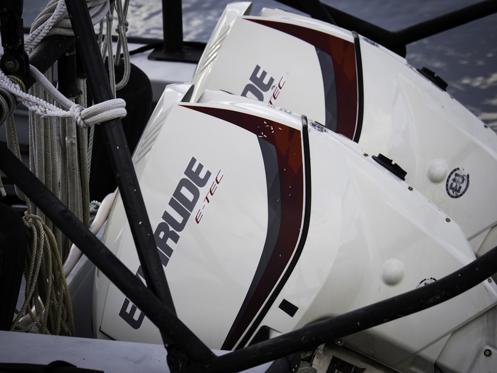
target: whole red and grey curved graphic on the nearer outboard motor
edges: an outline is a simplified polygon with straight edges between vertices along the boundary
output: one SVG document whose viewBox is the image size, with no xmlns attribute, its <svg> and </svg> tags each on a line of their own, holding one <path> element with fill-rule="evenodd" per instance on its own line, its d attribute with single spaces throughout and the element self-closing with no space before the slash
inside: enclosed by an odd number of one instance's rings
<svg viewBox="0 0 497 373">
<path fill-rule="evenodd" d="M 221 347 L 233 349 L 271 292 L 274 294 L 276 287 L 282 287 L 277 286 L 278 282 L 288 278 L 289 275 L 284 276 L 285 269 L 291 261 L 295 266 L 303 247 L 301 241 L 305 235 L 301 235 L 301 230 L 304 224 L 305 181 L 302 132 L 282 123 L 238 111 L 182 106 L 226 120 L 253 133 L 258 138 L 264 162 L 268 200 L 267 234 L 245 300 Z M 275 296 L 271 295 L 271 298 L 274 301 Z M 247 333 L 247 338 L 250 335 Z"/>
</svg>

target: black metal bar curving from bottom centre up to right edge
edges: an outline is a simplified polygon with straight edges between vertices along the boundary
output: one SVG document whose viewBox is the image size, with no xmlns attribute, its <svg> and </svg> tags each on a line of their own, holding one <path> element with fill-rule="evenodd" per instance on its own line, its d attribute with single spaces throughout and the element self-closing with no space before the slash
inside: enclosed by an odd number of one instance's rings
<svg viewBox="0 0 497 373">
<path fill-rule="evenodd" d="M 220 356 L 207 372 L 239 372 L 396 320 L 451 299 L 482 281 L 492 281 L 490 277 L 496 272 L 497 247 L 428 285 Z"/>
</svg>

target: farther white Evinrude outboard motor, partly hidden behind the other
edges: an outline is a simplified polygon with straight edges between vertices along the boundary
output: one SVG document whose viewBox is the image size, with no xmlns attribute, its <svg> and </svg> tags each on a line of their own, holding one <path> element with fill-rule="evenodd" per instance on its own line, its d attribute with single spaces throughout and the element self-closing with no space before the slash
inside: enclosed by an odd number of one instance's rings
<svg viewBox="0 0 497 373">
<path fill-rule="evenodd" d="M 357 33 L 283 10 L 229 4 L 192 79 L 303 113 L 396 164 L 481 255 L 497 245 L 497 136 L 435 76 Z M 494 227 L 492 230 L 491 228 Z M 485 242 L 485 240 L 487 240 Z"/>
</svg>

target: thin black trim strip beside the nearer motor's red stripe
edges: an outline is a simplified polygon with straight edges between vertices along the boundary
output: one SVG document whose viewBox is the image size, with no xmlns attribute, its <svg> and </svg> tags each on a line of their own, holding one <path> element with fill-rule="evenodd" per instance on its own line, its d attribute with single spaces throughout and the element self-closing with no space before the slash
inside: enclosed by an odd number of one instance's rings
<svg viewBox="0 0 497 373">
<path fill-rule="evenodd" d="M 295 250 L 295 254 L 288 265 L 288 268 L 286 269 L 285 273 L 283 274 L 281 280 L 278 282 L 278 284 L 275 286 L 273 292 L 267 299 L 266 304 L 262 307 L 260 310 L 259 314 L 253 321 L 252 325 L 248 328 L 247 333 L 245 333 L 244 337 L 240 340 L 240 343 L 236 347 L 236 349 L 241 349 L 243 348 L 248 341 L 250 340 L 250 337 L 255 333 L 256 330 L 259 328 L 259 324 L 264 318 L 264 316 L 267 314 L 267 311 L 269 311 L 269 308 L 273 305 L 274 301 L 276 300 L 276 297 L 280 293 L 281 289 L 285 285 L 286 281 L 290 277 L 290 275 L 293 272 L 293 269 L 297 265 L 297 262 L 299 261 L 300 254 L 302 254 L 302 250 L 304 249 L 304 245 L 306 243 L 307 239 L 307 233 L 309 231 L 309 222 L 311 219 L 311 154 L 310 154 L 310 149 L 309 149 L 309 130 L 307 127 L 307 117 L 305 115 L 302 115 L 302 141 L 303 141 L 303 154 L 304 154 L 304 172 L 305 172 L 305 205 L 304 205 L 304 222 L 302 224 L 302 235 L 300 236 L 300 241 L 297 246 L 297 250 Z"/>
</svg>

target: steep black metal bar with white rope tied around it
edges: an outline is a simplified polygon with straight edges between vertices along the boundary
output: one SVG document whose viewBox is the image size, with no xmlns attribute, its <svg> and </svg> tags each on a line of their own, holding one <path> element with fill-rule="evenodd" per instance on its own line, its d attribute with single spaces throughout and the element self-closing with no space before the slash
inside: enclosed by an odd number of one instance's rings
<svg viewBox="0 0 497 373">
<path fill-rule="evenodd" d="M 101 58 L 95 58 L 100 56 L 100 51 L 86 2 L 71 0 L 66 1 L 66 5 L 76 35 L 76 45 L 82 52 L 79 56 L 91 94 L 96 102 L 111 99 L 113 94 L 104 63 Z M 102 123 L 101 128 L 147 286 L 175 313 L 121 121 L 116 119 Z M 166 336 L 163 335 L 164 338 Z"/>
</svg>

